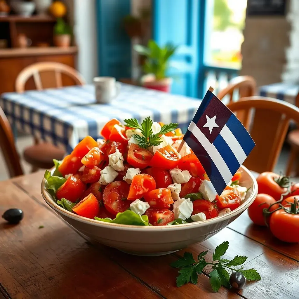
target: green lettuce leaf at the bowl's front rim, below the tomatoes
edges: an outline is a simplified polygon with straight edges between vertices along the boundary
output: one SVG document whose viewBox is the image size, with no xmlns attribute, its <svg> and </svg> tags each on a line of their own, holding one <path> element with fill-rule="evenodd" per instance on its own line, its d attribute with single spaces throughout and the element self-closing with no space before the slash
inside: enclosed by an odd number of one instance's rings
<svg viewBox="0 0 299 299">
<path fill-rule="evenodd" d="M 115 219 L 111 218 L 98 218 L 94 219 L 110 223 L 128 224 L 128 225 L 149 225 L 149 219 L 147 215 L 138 215 L 131 210 L 126 210 L 122 213 L 117 213 Z"/>
</svg>

